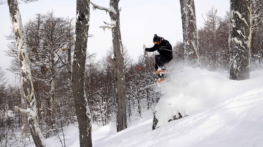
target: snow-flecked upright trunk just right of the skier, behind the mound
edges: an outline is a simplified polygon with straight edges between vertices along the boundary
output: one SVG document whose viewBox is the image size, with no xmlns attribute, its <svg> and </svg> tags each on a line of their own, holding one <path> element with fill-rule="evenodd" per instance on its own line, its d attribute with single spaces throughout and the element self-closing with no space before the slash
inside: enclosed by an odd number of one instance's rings
<svg viewBox="0 0 263 147">
<path fill-rule="evenodd" d="M 198 32 L 196 26 L 194 1 L 180 0 L 180 4 L 183 24 L 184 53 L 188 55 L 197 55 L 198 57 Z M 193 59 L 191 56 L 185 56 L 184 58 L 186 61 L 191 61 Z"/>
</svg>

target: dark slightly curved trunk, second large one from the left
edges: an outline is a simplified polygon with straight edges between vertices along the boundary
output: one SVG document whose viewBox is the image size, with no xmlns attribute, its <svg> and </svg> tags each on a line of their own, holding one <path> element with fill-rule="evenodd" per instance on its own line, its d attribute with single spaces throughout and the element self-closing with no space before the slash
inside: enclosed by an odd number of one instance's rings
<svg viewBox="0 0 263 147">
<path fill-rule="evenodd" d="M 91 147 L 91 114 L 85 92 L 84 72 L 89 30 L 89 0 L 77 0 L 76 38 L 72 63 L 72 94 L 79 123 L 79 144 Z"/>
</svg>

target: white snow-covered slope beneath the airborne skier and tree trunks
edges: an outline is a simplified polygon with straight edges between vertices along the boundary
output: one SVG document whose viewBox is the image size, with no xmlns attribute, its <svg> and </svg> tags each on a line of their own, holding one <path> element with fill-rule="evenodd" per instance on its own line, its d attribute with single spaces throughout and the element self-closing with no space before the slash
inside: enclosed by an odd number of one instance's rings
<svg viewBox="0 0 263 147">
<path fill-rule="evenodd" d="M 235 81 L 229 80 L 228 73 L 184 67 L 169 78 L 174 80 L 160 84 L 164 96 L 162 105 L 158 104 L 158 113 L 163 114 L 159 119 L 171 117 L 164 109 L 171 107 L 188 116 L 169 123 L 160 121 L 155 130 L 151 109 L 120 132 L 116 132 L 115 122 L 94 125 L 93 146 L 263 146 L 263 70 L 251 72 L 248 80 Z M 78 127 L 65 129 L 66 146 L 79 147 Z M 54 137 L 46 141 L 50 147 L 61 146 Z"/>
</svg>

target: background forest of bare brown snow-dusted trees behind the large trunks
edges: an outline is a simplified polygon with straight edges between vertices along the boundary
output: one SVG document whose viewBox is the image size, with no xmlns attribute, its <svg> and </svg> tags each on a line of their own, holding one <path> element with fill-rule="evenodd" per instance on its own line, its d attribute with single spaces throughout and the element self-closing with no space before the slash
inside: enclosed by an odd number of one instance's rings
<svg viewBox="0 0 263 147">
<path fill-rule="evenodd" d="M 262 5 L 263 2 L 260 0 L 251 0 L 250 71 L 262 69 Z M 100 7 L 97 8 L 100 9 Z M 230 73 L 229 28 L 231 28 L 231 16 L 229 14 L 230 12 L 226 12 L 225 16 L 218 16 L 217 8 L 211 6 L 211 9 L 203 14 L 205 23 L 197 29 L 198 59 L 182 54 L 186 53 L 185 43 L 177 41 L 172 47 L 175 51 L 173 52 L 173 60 L 167 66 L 180 63 L 204 68 L 208 71 Z M 44 138 L 57 136 L 62 146 L 65 146 L 63 135 L 59 135 L 58 132 L 63 132 L 63 127 L 78 122 L 71 79 L 74 74 L 72 65 L 77 58 L 77 55 L 74 55 L 74 49 L 78 45 L 75 41 L 75 32 L 76 29 L 79 29 L 77 22 L 75 18 L 55 16 L 53 11 L 48 11 L 45 14 L 36 14 L 34 18 L 25 22 L 23 29 L 39 128 Z M 15 35 L 15 33 L 11 33 L 6 36 L 6 39 L 10 40 L 10 44 L 5 52 L 8 56 L 13 57 L 8 70 L 20 75 L 21 66 Z M 86 37 L 93 37 L 93 35 L 88 34 Z M 155 72 L 154 60 L 158 53 L 142 53 L 139 58 L 133 59 L 125 44 L 120 43 L 124 59 L 126 116 L 127 121 L 132 121 L 132 115 L 139 119 L 142 109 L 152 109 L 152 106 L 156 105 L 162 97 L 162 93 L 156 91 L 158 87 L 139 90 L 139 88 L 156 81 L 156 75 L 133 75 L 133 73 Z M 89 50 L 85 56 L 84 91 L 90 110 L 90 119 L 92 123 L 99 126 L 105 126 L 110 121 L 117 121 L 118 90 L 116 89 L 118 89 L 118 85 L 115 77 L 117 61 L 113 58 L 113 55 L 117 54 L 115 45 L 109 46 L 107 53 L 101 59 L 97 59 L 96 54 L 89 53 Z M 190 53 L 195 55 L 195 52 Z M 192 62 L 187 62 L 189 58 Z M 138 67 L 141 67 L 142 70 L 139 70 Z M 178 69 L 170 70 L 177 71 Z M 19 84 L 7 83 L 5 74 L 0 67 L 0 147 L 17 146 L 18 144 L 27 146 L 34 142 L 27 121 L 28 116 L 17 111 L 17 108 L 27 110 L 27 103 L 23 97 L 24 88 Z"/>
</svg>

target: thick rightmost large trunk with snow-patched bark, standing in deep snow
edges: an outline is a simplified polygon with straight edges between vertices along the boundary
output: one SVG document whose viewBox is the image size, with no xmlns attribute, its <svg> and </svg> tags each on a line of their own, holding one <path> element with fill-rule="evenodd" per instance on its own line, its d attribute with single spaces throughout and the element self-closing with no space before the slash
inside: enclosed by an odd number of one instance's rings
<svg viewBox="0 0 263 147">
<path fill-rule="evenodd" d="M 230 1 L 230 79 L 249 79 L 251 0 Z"/>
</svg>

